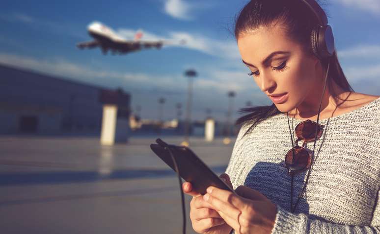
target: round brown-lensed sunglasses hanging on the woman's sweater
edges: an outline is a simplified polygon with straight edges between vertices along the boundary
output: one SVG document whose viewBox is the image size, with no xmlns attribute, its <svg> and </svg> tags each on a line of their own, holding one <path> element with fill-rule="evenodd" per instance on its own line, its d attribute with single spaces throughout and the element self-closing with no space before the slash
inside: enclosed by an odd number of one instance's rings
<svg viewBox="0 0 380 234">
<path fill-rule="evenodd" d="M 317 127 L 318 126 L 318 127 Z M 317 129 L 317 140 L 322 136 L 323 125 L 308 119 L 300 122 L 295 129 L 297 136 L 296 146 L 286 153 L 285 166 L 289 175 L 294 175 L 308 169 L 311 165 L 311 156 L 304 148 L 305 144 L 315 139 L 315 130 Z M 292 136 L 291 136 L 292 138 Z M 298 145 L 299 140 L 303 140 L 302 146 Z M 293 144 L 293 138 L 292 138 Z"/>
</svg>

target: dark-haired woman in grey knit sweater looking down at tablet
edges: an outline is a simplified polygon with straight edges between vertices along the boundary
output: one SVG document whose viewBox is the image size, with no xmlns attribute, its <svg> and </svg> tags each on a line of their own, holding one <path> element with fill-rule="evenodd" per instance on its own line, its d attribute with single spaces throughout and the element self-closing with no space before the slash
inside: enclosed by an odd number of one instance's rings
<svg viewBox="0 0 380 234">
<path fill-rule="evenodd" d="M 243 63 L 273 105 L 237 121 L 221 175 L 235 193 L 183 184 L 197 233 L 380 233 L 380 98 L 353 92 L 335 51 L 315 56 L 321 19 L 305 2 L 252 0 L 237 19 Z"/>
</svg>

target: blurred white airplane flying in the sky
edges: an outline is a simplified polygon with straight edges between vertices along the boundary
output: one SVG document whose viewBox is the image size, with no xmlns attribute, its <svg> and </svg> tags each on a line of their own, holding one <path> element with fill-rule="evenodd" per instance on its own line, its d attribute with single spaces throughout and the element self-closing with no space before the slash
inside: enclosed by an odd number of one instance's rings
<svg viewBox="0 0 380 234">
<path fill-rule="evenodd" d="M 94 41 L 81 42 L 77 44 L 80 49 L 100 47 L 104 54 L 111 50 L 112 54 L 125 54 L 141 49 L 156 47 L 161 49 L 163 45 L 174 45 L 172 43 L 157 40 L 157 41 L 141 41 L 143 33 L 137 31 L 134 40 L 126 40 L 117 35 L 111 28 L 100 22 L 90 23 L 87 27 L 88 33 L 94 38 Z M 180 44 L 185 44 L 185 40 L 181 40 Z"/>
</svg>

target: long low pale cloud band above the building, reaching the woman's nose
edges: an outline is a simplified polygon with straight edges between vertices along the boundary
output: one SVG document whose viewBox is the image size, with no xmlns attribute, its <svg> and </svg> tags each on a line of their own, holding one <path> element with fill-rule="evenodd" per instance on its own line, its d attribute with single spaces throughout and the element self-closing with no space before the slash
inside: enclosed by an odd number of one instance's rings
<svg viewBox="0 0 380 234">
<path fill-rule="evenodd" d="M 148 73 L 127 73 L 110 70 L 97 70 L 68 62 L 61 58 L 36 59 L 33 57 L 0 53 L 0 63 L 13 67 L 41 71 L 53 75 L 71 77 L 76 80 L 98 85 L 108 85 L 110 80 L 116 86 L 125 84 L 128 87 L 146 87 L 147 89 L 186 90 L 187 81 L 177 74 L 151 75 Z M 201 90 L 243 91 L 252 87 L 253 81 L 244 71 L 202 70 L 203 75 L 195 79 L 195 84 Z"/>
</svg>

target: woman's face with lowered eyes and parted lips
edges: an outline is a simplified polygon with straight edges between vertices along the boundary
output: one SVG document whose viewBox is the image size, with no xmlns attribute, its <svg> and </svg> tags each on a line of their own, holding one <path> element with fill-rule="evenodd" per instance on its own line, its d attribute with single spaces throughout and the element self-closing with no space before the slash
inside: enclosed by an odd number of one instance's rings
<svg viewBox="0 0 380 234">
<path fill-rule="evenodd" d="M 314 103 L 320 98 L 318 59 L 290 40 L 278 24 L 239 35 L 238 47 L 262 92 L 269 98 L 287 93 L 281 100 L 271 99 L 279 111 L 286 113 L 304 101 Z"/>
</svg>

